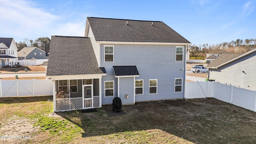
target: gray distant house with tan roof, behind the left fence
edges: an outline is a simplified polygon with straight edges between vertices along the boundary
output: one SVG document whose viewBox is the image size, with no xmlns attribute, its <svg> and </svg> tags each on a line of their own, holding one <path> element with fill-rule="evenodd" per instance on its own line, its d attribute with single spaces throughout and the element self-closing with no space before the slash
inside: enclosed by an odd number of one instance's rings
<svg viewBox="0 0 256 144">
<path fill-rule="evenodd" d="M 37 47 L 24 47 L 18 52 L 18 60 L 47 59 L 43 50 Z"/>
</svg>

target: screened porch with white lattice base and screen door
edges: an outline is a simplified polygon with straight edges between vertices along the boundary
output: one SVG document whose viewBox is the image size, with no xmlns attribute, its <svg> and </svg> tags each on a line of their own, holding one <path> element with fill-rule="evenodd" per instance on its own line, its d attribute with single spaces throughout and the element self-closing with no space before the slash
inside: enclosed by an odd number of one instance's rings
<svg viewBox="0 0 256 144">
<path fill-rule="evenodd" d="M 101 78 L 54 80 L 54 111 L 101 107 Z"/>
</svg>

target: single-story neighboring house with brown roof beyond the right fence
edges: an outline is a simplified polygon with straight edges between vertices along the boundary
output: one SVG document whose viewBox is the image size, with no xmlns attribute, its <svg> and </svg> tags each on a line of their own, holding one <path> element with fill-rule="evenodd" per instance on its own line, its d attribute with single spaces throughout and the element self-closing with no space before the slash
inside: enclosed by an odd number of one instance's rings
<svg viewBox="0 0 256 144">
<path fill-rule="evenodd" d="M 244 54 L 226 53 L 208 64 L 208 78 L 220 82 L 256 90 L 256 49 Z"/>
</svg>

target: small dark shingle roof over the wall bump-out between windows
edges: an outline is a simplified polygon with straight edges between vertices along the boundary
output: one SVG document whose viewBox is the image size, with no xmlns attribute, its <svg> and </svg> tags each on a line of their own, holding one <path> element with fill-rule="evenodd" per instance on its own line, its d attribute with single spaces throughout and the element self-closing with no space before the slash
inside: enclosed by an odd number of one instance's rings
<svg viewBox="0 0 256 144">
<path fill-rule="evenodd" d="M 113 66 L 115 76 L 135 76 L 139 75 L 136 66 Z"/>
</svg>

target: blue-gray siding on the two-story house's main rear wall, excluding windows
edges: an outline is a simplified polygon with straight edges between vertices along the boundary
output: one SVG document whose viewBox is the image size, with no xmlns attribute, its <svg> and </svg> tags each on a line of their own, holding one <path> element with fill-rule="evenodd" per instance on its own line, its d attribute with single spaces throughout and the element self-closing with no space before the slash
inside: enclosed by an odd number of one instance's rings
<svg viewBox="0 0 256 144">
<path fill-rule="evenodd" d="M 111 44 L 107 44 L 110 46 Z M 137 80 L 144 80 L 144 94 L 135 96 L 135 102 L 184 98 L 184 76 L 186 46 L 183 50 L 183 61 L 175 62 L 176 46 L 158 45 L 113 45 L 114 62 L 104 62 L 104 44 L 101 44 L 101 66 L 106 69 L 102 76 L 102 104 L 112 103 L 113 98 L 104 98 L 104 81 L 115 80 L 117 96 L 117 78 L 113 66 L 136 66 L 140 74 Z M 183 78 L 182 92 L 174 93 L 175 78 Z M 149 94 L 149 79 L 157 79 L 157 94 Z M 134 88 L 134 86 L 133 86 Z M 130 98 L 130 95 L 129 95 Z"/>
</svg>

